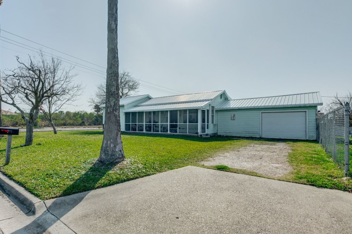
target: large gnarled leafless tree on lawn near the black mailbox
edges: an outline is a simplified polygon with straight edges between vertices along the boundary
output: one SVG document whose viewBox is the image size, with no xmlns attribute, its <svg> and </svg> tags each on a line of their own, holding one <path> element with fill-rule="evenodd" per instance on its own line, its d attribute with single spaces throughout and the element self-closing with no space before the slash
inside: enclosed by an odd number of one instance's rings
<svg viewBox="0 0 352 234">
<path fill-rule="evenodd" d="M 46 59 L 43 53 L 38 58 L 29 56 L 23 62 L 17 56 L 18 67 L 8 70 L 1 77 L 1 101 L 15 107 L 26 123 L 25 145 L 33 144 L 33 128 L 39 108 L 49 98 L 64 96 L 68 91 L 65 82 L 70 79 L 69 71 L 61 69 L 57 58 Z M 60 74 L 60 75 L 59 75 Z M 59 88 L 60 87 L 60 88 Z M 29 109 L 29 113 L 25 113 Z"/>
</svg>

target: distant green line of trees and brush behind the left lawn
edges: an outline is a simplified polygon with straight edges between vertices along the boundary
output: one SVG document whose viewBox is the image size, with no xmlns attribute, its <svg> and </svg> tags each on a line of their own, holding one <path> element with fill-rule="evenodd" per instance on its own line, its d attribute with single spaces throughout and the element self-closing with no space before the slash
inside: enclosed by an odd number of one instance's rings
<svg viewBox="0 0 352 234">
<path fill-rule="evenodd" d="M 28 114 L 29 113 L 25 113 L 25 115 Z M 96 126 L 103 124 L 103 115 L 94 112 L 88 113 L 86 111 L 58 111 L 52 115 L 52 121 L 54 122 L 55 126 Z M 3 114 L 2 125 L 10 127 L 21 127 L 26 126 L 26 123 L 21 117 L 20 113 L 15 113 Z M 51 124 L 43 114 L 39 114 L 37 120 L 34 123 L 34 126 L 51 127 Z"/>
</svg>

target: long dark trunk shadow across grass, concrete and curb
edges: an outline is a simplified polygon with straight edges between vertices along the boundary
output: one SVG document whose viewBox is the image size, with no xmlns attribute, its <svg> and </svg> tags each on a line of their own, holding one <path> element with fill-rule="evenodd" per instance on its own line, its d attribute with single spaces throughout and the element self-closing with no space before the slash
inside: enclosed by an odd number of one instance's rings
<svg viewBox="0 0 352 234">
<path fill-rule="evenodd" d="M 114 168 L 118 163 L 108 163 L 104 164 L 96 161 L 92 167 L 88 169 L 80 178 L 68 186 L 60 195 L 67 196 L 74 194 L 71 197 L 61 198 L 67 199 L 65 206 L 62 207 L 62 200 L 55 199 L 47 209 L 55 210 L 55 208 L 61 208 L 58 214 L 55 214 L 55 217 L 61 219 L 65 214 L 70 212 L 75 208 L 89 193 L 87 188 L 94 189 L 98 182 Z M 86 192 L 87 191 L 87 192 Z M 82 193 L 84 192 L 84 193 Z M 80 193 L 80 194 L 77 194 Z M 48 219 L 49 218 L 49 219 Z M 18 229 L 13 232 L 13 234 L 24 234 L 24 233 L 45 233 L 52 225 L 55 224 L 56 218 L 53 220 L 53 216 L 45 211 L 43 214 L 39 215 L 35 220 L 25 227 Z M 39 228 L 38 228 L 39 227 Z M 35 232 L 33 232 L 35 230 Z"/>
</svg>

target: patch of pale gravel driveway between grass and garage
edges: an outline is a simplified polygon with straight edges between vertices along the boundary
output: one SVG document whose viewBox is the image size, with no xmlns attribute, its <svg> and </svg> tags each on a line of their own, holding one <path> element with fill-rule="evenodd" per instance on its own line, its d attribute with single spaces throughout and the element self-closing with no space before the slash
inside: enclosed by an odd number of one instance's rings
<svg viewBox="0 0 352 234">
<path fill-rule="evenodd" d="M 279 177 L 291 171 L 287 155 L 291 148 L 284 142 L 267 142 L 222 152 L 200 162 L 206 166 L 226 165 L 232 168 L 246 169 L 262 175 Z"/>
</svg>

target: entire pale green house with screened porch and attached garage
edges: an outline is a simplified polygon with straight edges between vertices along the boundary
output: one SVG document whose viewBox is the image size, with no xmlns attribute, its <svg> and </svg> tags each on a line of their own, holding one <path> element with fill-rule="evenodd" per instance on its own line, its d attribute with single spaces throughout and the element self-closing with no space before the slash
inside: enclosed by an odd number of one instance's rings
<svg viewBox="0 0 352 234">
<path fill-rule="evenodd" d="M 319 92 L 237 100 L 225 90 L 140 95 L 120 99 L 121 131 L 316 140 L 321 105 Z"/>
</svg>

